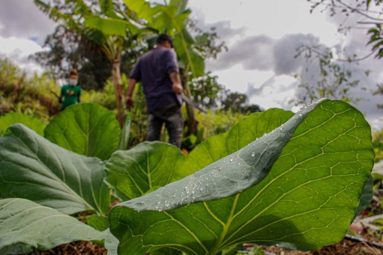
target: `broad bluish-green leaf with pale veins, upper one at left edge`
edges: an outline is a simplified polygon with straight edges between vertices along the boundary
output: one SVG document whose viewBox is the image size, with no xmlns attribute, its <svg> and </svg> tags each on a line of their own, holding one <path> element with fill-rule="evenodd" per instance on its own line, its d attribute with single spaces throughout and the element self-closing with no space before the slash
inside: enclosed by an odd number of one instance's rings
<svg viewBox="0 0 383 255">
<path fill-rule="evenodd" d="M 2 198 L 25 198 L 65 214 L 105 214 L 109 188 L 104 163 L 63 149 L 21 124 L 0 137 Z"/>
</svg>

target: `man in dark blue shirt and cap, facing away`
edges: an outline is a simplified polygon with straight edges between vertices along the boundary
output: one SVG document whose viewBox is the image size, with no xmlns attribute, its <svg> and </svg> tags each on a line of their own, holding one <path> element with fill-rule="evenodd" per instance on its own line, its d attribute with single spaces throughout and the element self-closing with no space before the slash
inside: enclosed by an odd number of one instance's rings
<svg viewBox="0 0 383 255">
<path fill-rule="evenodd" d="M 148 141 L 160 140 L 165 123 L 169 143 L 181 147 L 183 116 L 177 55 L 171 38 L 160 34 L 157 47 L 143 55 L 130 74 L 126 106 L 133 107 L 132 93 L 137 82 L 142 82 L 148 109 Z"/>
</svg>

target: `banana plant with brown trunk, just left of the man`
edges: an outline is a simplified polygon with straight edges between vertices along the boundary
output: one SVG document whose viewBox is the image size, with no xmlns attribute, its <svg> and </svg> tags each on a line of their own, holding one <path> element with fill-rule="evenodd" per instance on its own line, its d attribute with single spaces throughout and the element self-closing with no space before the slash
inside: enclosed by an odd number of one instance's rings
<svg viewBox="0 0 383 255">
<path fill-rule="evenodd" d="M 99 0 L 87 5 L 84 0 L 67 0 L 64 5 L 34 0 L 51 19 L 62 22 L 67 30 L 80 34 L 86 43 L 105 53 L 111 62 L 111 75 L 117 103 L 117 120 L 125 123 L 124 88 L 121 80 L 121 52 L 133 45 L 143 26 L 133 21 L 112 0 Z M 97 5 L 99 8 L 97 8 Z M 115 22 L 123 19 L 125 22 Z"/>
</svg>

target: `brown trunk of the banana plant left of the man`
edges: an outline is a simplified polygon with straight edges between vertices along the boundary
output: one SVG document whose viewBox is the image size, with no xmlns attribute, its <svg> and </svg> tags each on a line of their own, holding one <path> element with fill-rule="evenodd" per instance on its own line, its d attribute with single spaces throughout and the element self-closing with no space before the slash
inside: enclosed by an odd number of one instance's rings
<svg viewBox="0 0 383 255">
<path fill-rule="evenodd" d="M 117 106 L 117 121 L 120 124 L 120 127 L 124 127 L 126 113 L 124 109 L 124 86 L 122 85 L 121 80 L 121 55 L 112 60 L 112 81 L 114 85 L 114 94 L 116 96 L 116 106 Z"/>
</svg>

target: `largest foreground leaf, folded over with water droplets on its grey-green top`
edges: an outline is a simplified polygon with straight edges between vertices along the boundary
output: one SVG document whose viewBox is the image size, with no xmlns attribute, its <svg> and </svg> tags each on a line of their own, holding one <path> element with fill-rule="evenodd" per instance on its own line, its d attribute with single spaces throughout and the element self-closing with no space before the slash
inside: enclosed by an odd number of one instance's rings
<svg viewBox="0 0 383 255">
<path fill-rule="evenodd" d="M 119 254 L 171 247 L 214 255 L 245 242 L 314 250 L 339 242 L 373 167 L 363 115 L 326 100 L 242 149 L 250 141 L 241 137 L 238 130 L 227 143 L 230 149 L 206 150 L 194 165 L 239 149 L 229 156 L 115 206 L 109 223 Z"/>
</svg>

